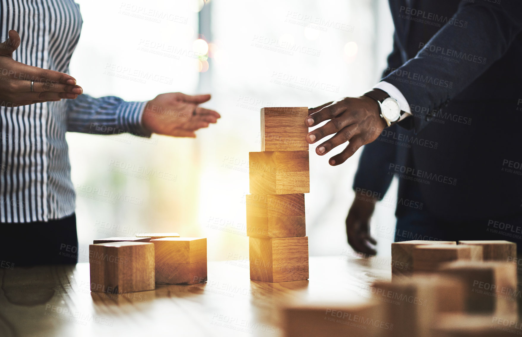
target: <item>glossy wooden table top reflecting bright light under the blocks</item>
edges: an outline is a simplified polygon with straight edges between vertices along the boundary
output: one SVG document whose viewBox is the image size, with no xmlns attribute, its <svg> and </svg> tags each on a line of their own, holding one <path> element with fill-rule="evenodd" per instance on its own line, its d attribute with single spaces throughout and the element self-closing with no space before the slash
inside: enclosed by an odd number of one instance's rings
<svg viewBox="0 0 522 337">
<path fill-rule="evenodd" d="M 208 281 L 91 293 L 89 265 L 0 269 L 0 336 L 283 336 L 293 299 L 360 301 L 389 280 L 389 258 L 311 257 L 310 279 L 251 281 L 248 261 L 208 263 Z"/>
</svg>

